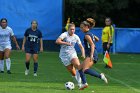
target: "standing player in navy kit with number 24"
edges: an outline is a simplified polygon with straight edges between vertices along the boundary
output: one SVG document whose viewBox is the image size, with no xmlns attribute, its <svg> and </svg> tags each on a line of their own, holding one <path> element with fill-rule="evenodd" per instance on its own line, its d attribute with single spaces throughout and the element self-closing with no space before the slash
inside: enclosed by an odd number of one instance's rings
<svg viewBox="0 0 140 93">
<path fill-rule="evenodd" d="M 22 43 L 22 50 L 26 52 L 26 70 L 25 75 L 29 74 L 29 65 L 31 56 L 34 61 L 34 76 L 37 76 L 38 69 L 38 53 L 43 51 L 42 33 L 37 29 L 37 21 L 31 22 L 31 28 L 25 31 L 24 39 Z"/>
</svg>

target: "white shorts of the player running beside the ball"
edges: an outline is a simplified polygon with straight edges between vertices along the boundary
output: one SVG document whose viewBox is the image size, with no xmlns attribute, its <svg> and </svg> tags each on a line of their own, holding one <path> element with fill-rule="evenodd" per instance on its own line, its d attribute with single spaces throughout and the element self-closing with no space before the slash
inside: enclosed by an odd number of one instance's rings
<svg viewBox="0 0 140 93">
<path fill-rule="evenodd" d="M 71 60 L 73 58 L 78 58 L 77 53 L 74 52 L 72 54 L 67 54 L 67 53 L 60 53 L 59 57 L 61 59 L 61 62 L 64 64 L 64 66 L 68 66 L 71 64 Z"/>
</svg>

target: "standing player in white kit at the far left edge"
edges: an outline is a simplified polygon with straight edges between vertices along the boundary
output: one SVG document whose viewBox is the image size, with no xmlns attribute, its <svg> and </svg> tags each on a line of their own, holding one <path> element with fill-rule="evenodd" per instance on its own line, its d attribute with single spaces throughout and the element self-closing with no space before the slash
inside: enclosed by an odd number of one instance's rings
<svg viewBox="0 0 140 93">
<path fill-rule="evenodd" d="M 11 74 L 11 60 L 10 60 L 10 52 L 11 52 L 11 39 L 16 44 L 16 48 L 19 48 L 19 45 L 14 36 L 13 30 L 7 26 L 7 19 L 2 18 L 0 20 L 0 71 L 4 73 L 4 58 L 6 60 L 7 73 Z"/>
</svg>

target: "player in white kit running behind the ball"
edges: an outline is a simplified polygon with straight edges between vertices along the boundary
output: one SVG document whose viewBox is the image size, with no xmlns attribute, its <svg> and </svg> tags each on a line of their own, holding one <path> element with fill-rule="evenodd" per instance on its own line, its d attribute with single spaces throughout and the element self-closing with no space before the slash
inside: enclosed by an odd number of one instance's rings
<svg viewBox="0 0 140 93">
<path fill-rule="evenodd" d="M 80 38 L 74 34 L 75 33 L 75 25 L 70 23 L 68 26 L 68 32 L 62 33 L 58 39 L 56 40 L 56 44 L 61 45 L 59 57 L 67 68 L 67 70 L 72 74 L 73 77 L 78 82 L 78 86 L 81 86 L 81 77 L 79 75 L 78 70 L 80 70 L 80 62 L 77 57 L 76 50 L 74 48 L 75 44 L 78 43 L 82 57 L 85 58 L 84 48 L 80 41 Z M 76 69 L 78 70 L 76 70 Z"/>
</svg>

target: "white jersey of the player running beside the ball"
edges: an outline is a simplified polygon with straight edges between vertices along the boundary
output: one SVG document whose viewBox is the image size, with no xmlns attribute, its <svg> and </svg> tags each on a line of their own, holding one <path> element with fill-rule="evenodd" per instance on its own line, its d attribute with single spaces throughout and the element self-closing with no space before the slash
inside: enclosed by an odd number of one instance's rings
<svg viewBox="0 0 140 93">
<path fill-rule="evenodd" d="M 68 46 L 68 45 L 61 45 L 61 49 L 60 49 L 60 54 L 61 53 L 66 53 L 66 54 L 71 54 L 76 52 L 74 46 L 76 43 L 81 44 L 80 38 L 74 34 L 73 36 L 70 36 L 68 32 L 64 32 L 62 33 L 59 38 L 61 38 L 63 41 L 71 43 L 72 46 Z"/>
</svg>

